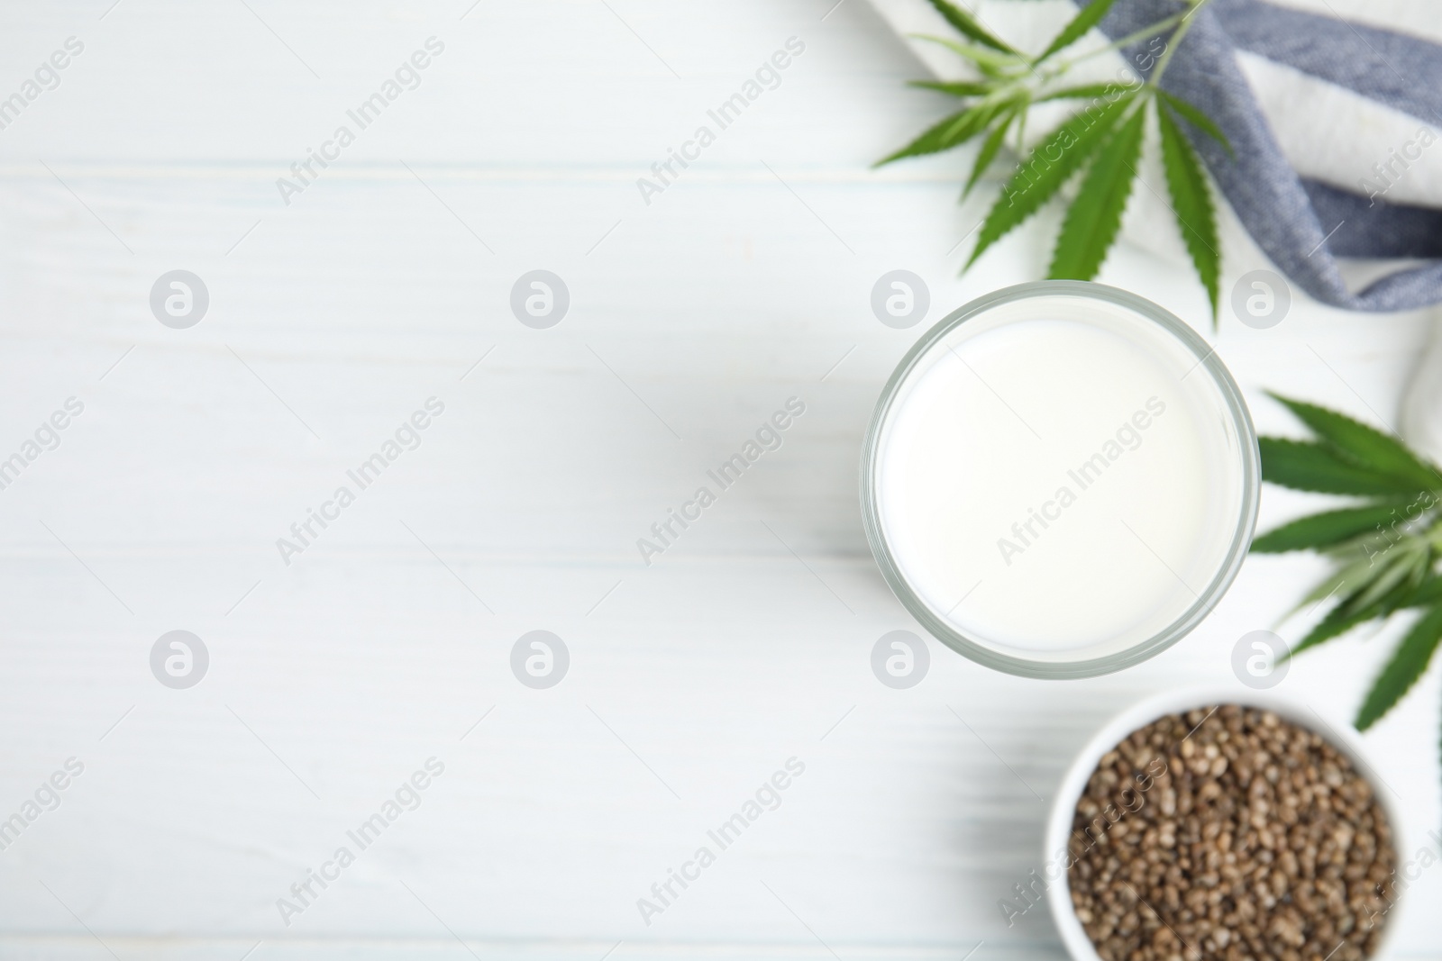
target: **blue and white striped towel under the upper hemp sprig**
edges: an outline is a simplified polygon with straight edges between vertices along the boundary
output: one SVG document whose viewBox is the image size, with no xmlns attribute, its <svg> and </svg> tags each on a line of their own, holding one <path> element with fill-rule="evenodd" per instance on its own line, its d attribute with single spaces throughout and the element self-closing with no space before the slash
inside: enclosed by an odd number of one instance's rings
<svg viewBox="0 0 1442 961">
<path fill-rule="evenodd" d="M 898 32 L 952 35 L 927 0 L 872 6 Z M 1028 37 L 1007 29 L 1017 20 L 1008 7 L 1047 7 L 1044 23 L 1031 17 L 1043 32 L 1027 49 L 1069 16 L 1056 3 L 966 6 L 1024 46 Z M 1182 9 L 1119 0 L 1100 29 L 1123 37 Z M 1162 78 L 1226 133 L 1234 156 L 1206 135 L 1193 143 L 1257 246 L 1318 301 L 1367 311 L 1442 303 L 1439 13 L 1436 0 L 1214 0 Z M 1123 55 L 1132 62 L 1145 46 Z M 960 73 L 950 52 L 913 49 L 937 75 Z M 1354 290 L 1338 258 L 1396 264 Z"/>
</svg>

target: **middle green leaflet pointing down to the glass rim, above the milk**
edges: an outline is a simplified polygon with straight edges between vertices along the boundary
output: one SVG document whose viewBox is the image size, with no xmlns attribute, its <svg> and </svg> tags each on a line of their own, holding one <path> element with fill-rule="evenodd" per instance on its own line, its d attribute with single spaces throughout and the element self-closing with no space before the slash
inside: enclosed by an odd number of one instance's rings
<svg viewBox="0 0 1442 961">
<path fill-rule="evenodd" d="M 1145 121 L 1145 111 L 1133 111 L 1097 151 L 1077 199 L 1061 220 L 1061 233 L 1047 271 L 1051 280 L 1089 281 L 1102 269 L 1102 261 L 1122 229 L 1122 213 L 1132 195 Z"/>
</svg>

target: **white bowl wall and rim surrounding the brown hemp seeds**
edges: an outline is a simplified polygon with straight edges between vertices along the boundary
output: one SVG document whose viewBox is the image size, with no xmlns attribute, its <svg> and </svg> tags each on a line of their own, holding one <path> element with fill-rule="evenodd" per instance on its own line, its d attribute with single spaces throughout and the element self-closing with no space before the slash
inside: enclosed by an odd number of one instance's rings
<svg viewBox="0 0 1442 961">
<path fill-rule="evenodd" d="M 1070 872 L 1066 870 L 1071 821 L 1076 815 L 1077 801 L 1082 798 L 1092 772 L 1096 771 L 1096 765 L 1102 756 L 1133 730 L 1145 728 L 1158 718 L 1185 713 L 1194 707 L 1207 707 L 1210 705 L 1242 705 L 1244 707 L 1270 710 L 1283 720 L 1321 735 L 1351 761 L 1353 768 L 1371 784 L 1373 795 L 1381 804 L 1383 811 L 1386 811 L 1392 828 L 1394 867 L 1403 863 L 1406 857 L 1405 852 L 1410 850 L 1405 846 L 1402 813 L 1392 797 L 1392 790 L 1379 781 L 1376 769 L 1367 759 L 1363 741 L 1350 723 L 1319 716 L 1306 705 L 1288 700 L 1272 692 L 1239 692 L 1234 687 L 1187 687 L 1154 694 L 1112 718 L 1112 720 L 1092 736 L 1061 779 L 1056 801 L 1051 804 L 1051 815 L 1047 818 L 1047 840 L 1043 849 L 1043 864 L 1045 864 L 1044 873 L 1047 875 L 1047 905 L 1051 908 L 1051 916 L 1056 918 L 1057 929 L 1061 932 L 1061 942 L 1074 961 L 1102 961 L 1102 957 L 1096 952 L 1096 947 L 1082 928 L 1082 922 L 1077 921 L 1071 908 Z M 1060 875 L 1056 879 L 1051 877 L 1054 869 Z M 1393 893 L 1393 898 L 1394 903 L 1387 911 L 1386 926 L 1377 944 L 1377 951 L 1368 961 L 1386 957 L 1393 941 L 1399 922 L 1397 913 L 1403 900 L 1397 892 Z"/>
</svg>

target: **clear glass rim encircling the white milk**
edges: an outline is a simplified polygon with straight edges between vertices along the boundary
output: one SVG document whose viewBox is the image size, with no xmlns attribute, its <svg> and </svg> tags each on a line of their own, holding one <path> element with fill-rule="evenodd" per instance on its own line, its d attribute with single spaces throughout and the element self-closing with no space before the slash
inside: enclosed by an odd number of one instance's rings
<svg viewBox="0 0 1442 961">
<path fill-rule="evenodd" d="M 1231 535 L 1231 543 L 1227 546 L 1226 558 L 1217 569 L 1217 573 L 1185 611 L 1182 611 L 1171 624 L 1152 637 L 1120 651 L 1080 660 L 1034 660 L 1005 654 L 981 643 L 979 640 L 968 637 L 953 624 L 949 624 L 936 615 L 907 582 L 891 555 L 890 545 L 887 543 L 885 533 L 881 526 L 881 510 L 877 501 L 875 483 L 878 465 L 877 457 L 887 415 L 891 412 L 891 406 L 897 399 L 901 385 L 907 382 L 919 360 L 943 337 L 973 317 L 1012 301 L 1057 294 L 1084 297 L 1094 301 L 1099 300 L 1116 304 L 1145 320 L 1152 321 L 1169 333 L 1197 359 L 1197 367 L 1206 367 L 1207 373 L 1211 376 L 1213 383 L 1217 386 L 1217 390 L 1226 402 L 1230 424 L 1233 429 L 1236 429 L 1237 439 L 1243 448 L 1242 509 L 1237 516 L 1236 530 Z M 1233 380 L 1227 367 L 1217 357 L 1216 349 L 1203 340 L 1197 331 L 1180 317 L 1159 304 L 1129 291 L 1116 287 L 1106 287 L 1105 284 L 1094 284 L 1092 281 L 1030 281 L 983 294 L 982 297 L 978 297 L 976 300 L 953 310 L 950 314 L 937 321 L 929 331 L 926 331 L 926 334 L 923 334 L 897 363 L 891 377 L 881 389 L 881 396 L 877 399 L 875 411 L 871 415 L 871 424 L 867 426 L 867 435 L 861 445 L 862 526 L 867 530 L 867 543 L 871 546 L 871 555 L 875 558 L 877 566 L 881 568 L 881 576 L 885 578 L 891 592 L 901 602 L 901 607 L 904 607 L 907 612 L 916 618 L 916 621 L 924 627 L 927 633 L 932 634 L 932 637 L 942 641 L 957 654 L 994 670 L 1018 674 L 1021 677 L 1061 680 L 1110 674 L 1155 657 L 1181 638 L 1187 637 L 1217 607 L 1226 595 L 1227 588 L 1230 588 L 1231 582 L 1236 579 L 1237 572 L 1242 569 L 1242 563 L 1246 560 L 1247 550 L 1252 546 L 1253 532 L 1256 530 L 1260 496 L 1262 462 L 1257 450 L 1256 428 L 1252 425 L 1252 414 L 1247 411 L 1247 403 L 1242 396 L 1242 389 L 1237 386 L 1237 382 Z"/>
</svg>

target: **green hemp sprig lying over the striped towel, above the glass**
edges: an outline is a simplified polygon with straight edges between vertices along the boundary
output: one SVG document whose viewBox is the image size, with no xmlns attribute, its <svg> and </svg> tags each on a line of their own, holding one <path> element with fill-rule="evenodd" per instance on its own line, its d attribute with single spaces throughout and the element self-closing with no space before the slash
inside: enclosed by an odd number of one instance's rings
<svg viewBox="0 0 1442 961">
<path fill-rule="evenodd" d="M 1195 135 L 1213 137 L 1229 151 L 1231 147 L 1206 114 L 1158 86 L 1172 53 L 1193 23 L 1191 16 L 1207 1 L 1194 0 L 1184 13 L 1069 59 L 1063 53 L 1100 23 L 1115 0 L 1093 0 L 1037 55 L 1011 46 L 960 6 L 947 0 L 930 0 L 965 40 L 936 36 L 919 39 L 955 52 L 979 73 L 979 78 L 913 82 L 913 86 L 957 98 L 962 101 L 962 109 L 939 121 L 877 166 L 953 150 L 979 140 L 976 160 L 962 189 L 965 199 L 996 160 L 1008 133 L 1015 131 L 1019 161 L 986 213 L 963 269 L 970 268 L 992 243 L 1056 197 L 1069 182 L 1080 177 L 1077 196 L 1063 218 L 1047 277 L 1089 281 L 1102 269 L 1107 252 L 1116 243 L 1126 202 L 1132 195 L 1133 182 L 1139 179 L 1145 130 L 1148 124 L 1154 124 L 1161 135 L 1169 206 L 1197 277 L 1207 291 L 1211 320 L 1216 324 L 1220 304 L 1221 242 L 1217 236 L 1211 184 L 1193 146 L 1193 131 Z M 1133 79 L 1115 84 L 1060 85 L 1063 75 L 1076 63 L 1142 40 L 1151 40 L 1148 48 L 1151 53 L 1144 58 L 1148 59 L 1148 68 L 1155 66 L 1145 84 Z M 1028 150 L 1024 131 L 1031 107 L 1058 99 L 1080 101 L 1080 107 Z"/>
</svg>

